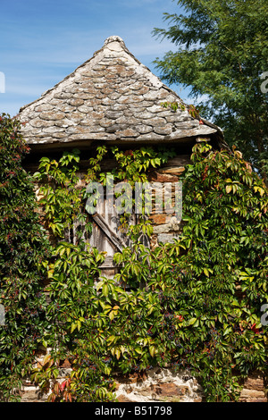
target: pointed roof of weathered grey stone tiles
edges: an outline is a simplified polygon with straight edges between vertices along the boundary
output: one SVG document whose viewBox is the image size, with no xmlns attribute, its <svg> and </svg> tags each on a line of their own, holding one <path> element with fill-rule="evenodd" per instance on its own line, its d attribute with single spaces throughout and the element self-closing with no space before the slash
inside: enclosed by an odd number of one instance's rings
<svg viewBox="0 0 268 420">
<path fill-rule="evenodd" d="M 180 97 L 110 37 L 91 59 L 41 97 L 21 108 L 21 132 L 32 145 L 88 145 L 92 141 L 181 142 L 219 129 L 176 113 L 163 102 Z"/>
</svg>

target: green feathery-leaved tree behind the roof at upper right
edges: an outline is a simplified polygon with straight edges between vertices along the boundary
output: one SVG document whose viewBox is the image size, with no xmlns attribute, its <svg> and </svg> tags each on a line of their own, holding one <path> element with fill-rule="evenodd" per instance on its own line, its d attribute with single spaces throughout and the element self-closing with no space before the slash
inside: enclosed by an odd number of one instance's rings
<svg viewBox="0 0 268 420">
<path fill-rule="evenodd" d="M 178 46 L 155 63 L 163 80 L 201 97 L 200 113 L 239 147 L 267 185 L 267 4 L 265 0 L 180 0 L 159 38 Z M 203 96 L 203 97 L 202 97 Z"/>
</svg>

